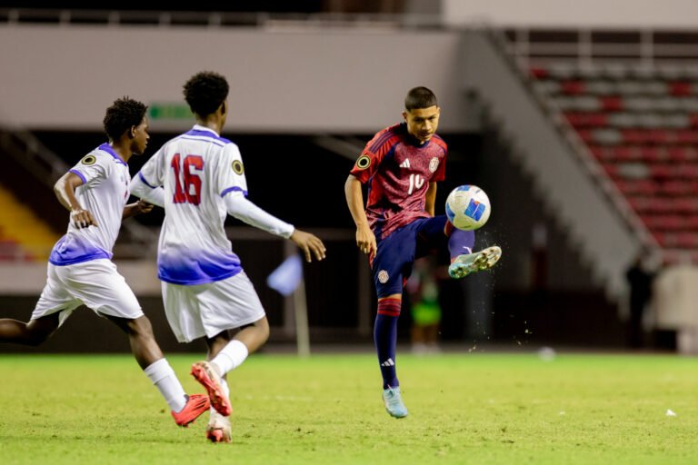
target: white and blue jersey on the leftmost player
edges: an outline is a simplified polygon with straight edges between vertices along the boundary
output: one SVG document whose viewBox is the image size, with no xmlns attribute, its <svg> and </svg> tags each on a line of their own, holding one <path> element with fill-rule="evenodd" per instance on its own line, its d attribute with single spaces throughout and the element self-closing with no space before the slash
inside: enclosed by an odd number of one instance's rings
<svg viewBox="0 0 698 465">
<path fill-rule="evenodd" d="M 55 243 L 48 261 L 65 266 L 99 258 L 111 259 L 129 196 L 128 165 L 108 143 L 103 143 L 85 155 L 70 172 L 83 180 L 83 185 L 75 189 L 75 198 L 92 213 L 97 226 L 76 228 L 69 222 L 68 232 Z"/>
</svg>

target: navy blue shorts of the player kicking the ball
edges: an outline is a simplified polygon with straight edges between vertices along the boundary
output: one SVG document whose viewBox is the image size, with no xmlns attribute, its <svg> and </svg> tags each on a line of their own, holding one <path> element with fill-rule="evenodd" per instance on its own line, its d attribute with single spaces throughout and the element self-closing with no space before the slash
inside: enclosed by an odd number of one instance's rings
<svg viewBox="0 0 698 465">
<path fill-rule="evenodd" d="M 402 294 L 404 281 L 412 274 L 414 261 L 430 251 L 446 247 L 446 216 L 420 218 L 378 242 L 371 269 L 378 297 Z"/>
</svg>

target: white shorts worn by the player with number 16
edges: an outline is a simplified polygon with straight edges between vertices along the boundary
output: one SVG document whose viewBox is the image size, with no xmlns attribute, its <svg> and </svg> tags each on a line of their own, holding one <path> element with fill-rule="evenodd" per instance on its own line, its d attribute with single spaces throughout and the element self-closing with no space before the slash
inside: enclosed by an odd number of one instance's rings
<svg viewBox="0 0 698 465">
<path fill-rule="evenodd" d="M 264 318 L 252 282 L 244 272 L 216 282 L 184 286 L 163 282 L 165 314 L 177 341 L 213 338 Z"/>
</svg>

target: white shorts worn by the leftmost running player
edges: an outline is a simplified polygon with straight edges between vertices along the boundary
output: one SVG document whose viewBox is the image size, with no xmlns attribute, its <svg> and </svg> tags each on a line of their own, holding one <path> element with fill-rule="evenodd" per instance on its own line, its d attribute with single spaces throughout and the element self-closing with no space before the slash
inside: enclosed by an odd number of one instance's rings
<svg viewBox="0 0 698 465">
<path fill-rule="evenodd" d="M 124 276 L 111 260 L 97 259 L 73 265 L 48 263 L 44 291 L 36 302 L 32 320 L 61 312 L 59 324 L 85 304 L 98 315 L 135 320 L 143 310 Z"/>
</svg>

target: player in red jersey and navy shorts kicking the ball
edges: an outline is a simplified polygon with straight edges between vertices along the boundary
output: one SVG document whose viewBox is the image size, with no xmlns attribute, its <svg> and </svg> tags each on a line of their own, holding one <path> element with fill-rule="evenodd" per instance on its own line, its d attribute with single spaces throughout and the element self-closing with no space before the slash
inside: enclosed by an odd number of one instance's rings
<svg viewBox="0 0 698 465">
<path fill-rule="evenodd" d="M 404 123 L 374 135 L 344 184 L 349 211 L 356 223 L 356 245 L 369 255 L 378 314 L 375 348 L 383 375 L 385 409 L 407 416 L 395 371 L 397 318 L 403 286 L 414 260 L 430 249 L 448 246 L 453 278 L 492 268 L 502 250 L 473 252 L 473 231 L 455 229 L 445 215 L 434 216 L 436 183 L 444 180 L 446 143 L 436 135 L 440 109 L 426 87 L 415 87 L 404 99 Z M 368 184 L 364 210 L 362 184 Z"/>
</svg>

